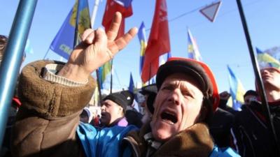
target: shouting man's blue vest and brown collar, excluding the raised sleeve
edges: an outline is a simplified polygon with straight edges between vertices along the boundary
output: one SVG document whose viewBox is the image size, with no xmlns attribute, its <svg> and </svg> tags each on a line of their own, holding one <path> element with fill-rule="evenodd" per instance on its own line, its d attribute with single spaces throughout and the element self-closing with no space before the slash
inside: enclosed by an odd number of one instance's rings
<svg viewBox="0 0 280 157">
<path fill-rule="evenodd" d="M 205 124 L 195 124 L 164 144 L 154 142 L 152 137 L 146 138 L 151 135 L 149 123 L 140 130 L 133 126 L 113 126 L 97 130 L 83 124 L 78 126 L 78 135 L 85 154 L 92 157 L 145 157 L 149 152 L 150 156 L 239 156 L 232 149 L 218 149 L 214 146 Z M 158 148 L 154 149 L 154 146 Z"/>
</svg>

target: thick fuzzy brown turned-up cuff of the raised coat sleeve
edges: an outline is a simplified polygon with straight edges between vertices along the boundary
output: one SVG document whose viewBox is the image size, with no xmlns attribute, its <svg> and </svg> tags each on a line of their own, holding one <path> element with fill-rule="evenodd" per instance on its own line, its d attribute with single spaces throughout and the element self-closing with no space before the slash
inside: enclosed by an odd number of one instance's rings
<svg viewBox="0 0 280 157">
<path fill-rule="evenodd" d="M 18 96 L 22 107 L 35 110 L 40 117 L 45 119 L 67 117 L 80 112 L 92 98 L 96 87 L 95 80 L 88 77 L 87 84 L 78 87 L 44 80 L 43 73 L 47 72 L 45 67 L 50 63 L 63 64 L 58 61 L 35 61 L 22 69 L 18 86 Z"/>
</svg>

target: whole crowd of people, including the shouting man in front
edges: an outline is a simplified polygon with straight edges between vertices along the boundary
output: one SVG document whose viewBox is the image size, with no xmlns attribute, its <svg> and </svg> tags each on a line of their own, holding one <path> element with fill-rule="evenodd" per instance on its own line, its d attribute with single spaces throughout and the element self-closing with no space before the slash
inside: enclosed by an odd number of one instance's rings
<svg viewBox="0 0 280 157">
<path fill-rule="evenodd" d="M 116 39 L 121 18 L 116 13 L 108 32 L 87 29 L 67 63 L 35 61 L 22 69 L 1 156 L 280 156 L 278 68 L 260 70 L 269 115 L 258 86 L 244 94 L 241 111 L 233 110 L 207 64 L 173 57 L 155 84 L 139 91 L 142 112 L 134 109 L 134 93 L 118 91 L 104 96 L 101 114 L 90 119 L 90 74 L 137 33 L 132 28 Z"/>
</svg>

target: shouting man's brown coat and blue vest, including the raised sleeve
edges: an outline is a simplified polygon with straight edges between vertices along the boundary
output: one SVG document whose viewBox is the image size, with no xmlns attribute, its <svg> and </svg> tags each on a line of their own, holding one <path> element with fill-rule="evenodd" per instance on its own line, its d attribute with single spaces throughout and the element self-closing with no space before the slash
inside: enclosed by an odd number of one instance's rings
<svg viewBox="0 0 280 157">
<path fill-rule="evenodd" d="M 95 88 L 89 77 L 81 87 L 66 87 L 43 80 L 47 63 L 29 63 L 20 75 L 19 94 L 22 107 L 13 126 L 13 156 L 135 156 L 148 147 L 143 133 L 135 126 L 113 126 L 101 130 L 79 123 L 79 114 Z M 133 132 L 131 132 L 133 131 Z M 129 133 L 127 135 L 127 133 Z M 127 142 L 133 143 L 126 145 Z M 136 148 L 136 149 L 134 149 Z M 139 149 L 139 150 L 138 150 Z M 136 150 L 136 151 L 135 151 Z M 196 124 L 162 144 L 153 156 L 238 156 L 232 149 L 219 150 L 204 124 Z"/>
</svg>

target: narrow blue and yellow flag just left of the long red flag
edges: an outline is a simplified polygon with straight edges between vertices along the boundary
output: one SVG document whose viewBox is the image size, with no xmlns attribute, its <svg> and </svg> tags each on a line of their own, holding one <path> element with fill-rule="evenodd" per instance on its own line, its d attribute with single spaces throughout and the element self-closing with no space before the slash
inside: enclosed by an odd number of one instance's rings
<svg viewBox="0 0 280 157">
<path fill-rule="evenodd" d="M 140 75 L 142 73 L 142 68 L 144 65 L 144 58 L 145 58 L 145 51 L 146 51 L 146 47 L 147 47 L 147 38 L 146 38 L 146 29 L 145 29 L 145 25 L 144 22 L 141 23 L 141 26 L 139 28 L 138 31 L 138 38 L 139 38 L 139 42 L 141 45 L 140 48 Z"/>
</svg>

